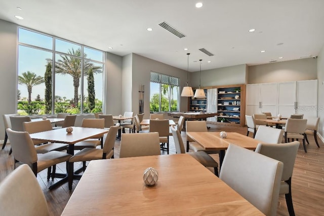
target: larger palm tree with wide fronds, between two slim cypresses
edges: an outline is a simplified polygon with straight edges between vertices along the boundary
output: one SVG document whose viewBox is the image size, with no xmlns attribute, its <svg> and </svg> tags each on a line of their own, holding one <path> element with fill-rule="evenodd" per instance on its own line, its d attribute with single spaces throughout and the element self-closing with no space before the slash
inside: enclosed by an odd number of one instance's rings
<svg viewBox="0 0 324 216">
<path fill-rule="evenodd" d="M 78 102 L 78 92 L 77 89 L 80 85 L 80 78 L 81 78 L 81 65 L 82 59 L 79 58 L 82 56 L 81 49 L 68 50 L 68 55 L 60 55 L 61 59 L 55 62 L 55 73 L 62 74 L 62 75 L 70 75 L 73 78 L 73 86 L 74 86 L 74 98 L 73 103 L 77 106 Z M 87 57 L 85 54 L 84 57 Z M 49 62 L 52 62 L 52 59 L 47 59 Z M 94 66 L 94 64 L 90 61 L 84 61 L 83 69 L 84 69 L 84 76 L 88 76 L 89 70 L 92 68 L 92 72 L 94 74 L 102 73 L 100 66 Z"/>
</svg>

